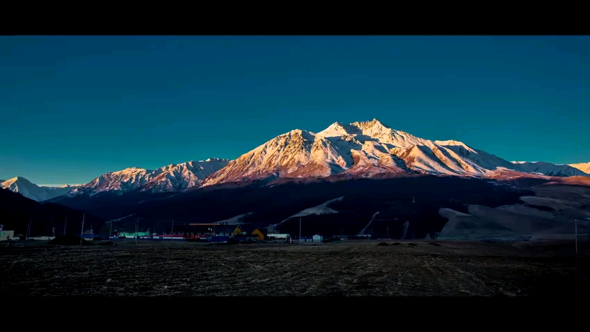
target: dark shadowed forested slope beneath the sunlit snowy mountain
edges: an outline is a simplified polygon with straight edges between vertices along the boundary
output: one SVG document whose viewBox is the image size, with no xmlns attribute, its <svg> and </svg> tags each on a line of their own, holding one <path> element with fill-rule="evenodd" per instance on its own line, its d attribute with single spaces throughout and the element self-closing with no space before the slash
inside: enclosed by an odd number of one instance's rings
<svg viewBox="0 0 590 332">
<path fill-rule="evenodd" d="M 446 219 L 438 215 L 440 208 L 466 213 L 468 204 L 497 207 L 518 204 L 519 197 L 534 195 L 530 190 L 516 189 L 507 183 L 450 176 L 358 179 L 333 183 L 318 181 L 271 186 L 263 184 L 223 185 L 175 194 L 99 194 L 90 198 L 61 199 L 58 202 L 73 205 L 73 208 L 81 202 L 84 208 L 111 219 L 135 214 L 135 217 L 150 220 L 141 223 L 145 228 L 164 231 L 172 219 L 179 224 L 219 222 L 246 213 L 251 214 L 241 218 L 244 224 L 278 224 L 302 210 L 344 197 L 341 201 L 328 204 L 328 208 L 338 212 L 335 215 L 303 217 L 307 225 L 304 235 L 308 232 L 310 235 L 355 235 L 379 211 L 378 217 L 367 228 L 367 233 L 385 237 L 389 228 L 390 237 L 399 238 L 407 221 L 410 225 L 406 235 L 424 238 L 427 233 L 433 235 L 440 232 L 445 225 Z M 129 227 L 133 222 L 127 220 L 119 224 L 129 224 Z M 298 218 L 283 222 L 279 229 L 298 234 Z"/>
</svg>

